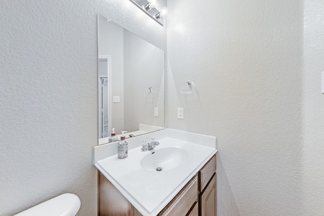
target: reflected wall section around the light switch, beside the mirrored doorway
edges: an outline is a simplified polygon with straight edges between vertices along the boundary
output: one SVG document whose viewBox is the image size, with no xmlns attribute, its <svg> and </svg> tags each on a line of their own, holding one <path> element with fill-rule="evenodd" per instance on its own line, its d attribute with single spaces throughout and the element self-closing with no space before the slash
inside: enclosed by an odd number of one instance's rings
<svg viewBox="0 0 324 216">
<path fill-rule="evenodd" d="M 115 132 L 124 131 L 124 28 L 99 16 L 98 54 L 111 56 L 111 92 L 120 96 L 119 103 L 111 103 L 111 125 Z M 109 134 L 111 128 L 109 128 Z"/>
</svg>

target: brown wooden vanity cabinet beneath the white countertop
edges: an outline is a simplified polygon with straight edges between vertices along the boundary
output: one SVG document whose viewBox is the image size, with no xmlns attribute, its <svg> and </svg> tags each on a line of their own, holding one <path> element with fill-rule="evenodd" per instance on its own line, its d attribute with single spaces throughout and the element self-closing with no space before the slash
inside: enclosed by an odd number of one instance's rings
<svg viewBox="0 0 324 216">
<path fill-rule="evenodd" d="M 216 215 L 216 155 L 182 188 L 158 216 Z M 99 215 L 142 215 L 100 173 Z"/>
</svg>

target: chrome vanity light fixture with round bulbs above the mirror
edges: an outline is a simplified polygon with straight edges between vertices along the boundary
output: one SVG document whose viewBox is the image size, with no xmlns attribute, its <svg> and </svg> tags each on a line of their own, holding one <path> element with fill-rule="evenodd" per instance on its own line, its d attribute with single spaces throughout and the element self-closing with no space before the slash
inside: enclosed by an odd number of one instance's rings
<svg viewBox="0 0 324 216">
<path fill-rule="evenodd" d="M 156 9 L 157 0 L 130 0 L 153 20 L 163 26 L 163 17 L 168 15 L 168 9 L 166 7 L 161 8 L 160 11 Z"/>
</svg>

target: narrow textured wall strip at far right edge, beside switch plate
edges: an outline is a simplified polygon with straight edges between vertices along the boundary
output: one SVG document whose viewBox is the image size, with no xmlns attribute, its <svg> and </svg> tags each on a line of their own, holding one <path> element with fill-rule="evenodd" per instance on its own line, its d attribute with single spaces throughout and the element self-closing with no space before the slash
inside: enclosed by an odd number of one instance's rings
<svg viewBox="0 0 324 216">
<path fill-rule="evenodd" d="M 305 215 L 324 212 L 324 1 L 304 4 L 303 174 Z"/>
</svg>

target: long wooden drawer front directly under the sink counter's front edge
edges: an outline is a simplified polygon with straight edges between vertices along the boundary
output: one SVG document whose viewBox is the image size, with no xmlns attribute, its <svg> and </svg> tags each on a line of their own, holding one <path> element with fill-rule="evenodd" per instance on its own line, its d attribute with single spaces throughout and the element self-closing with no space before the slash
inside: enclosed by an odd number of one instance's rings
<svg viewBox="0 0 324 216">
<path fill-rule="evenodd" d="M 197 190 L 198 177 L 194 176 L 158 215 L 186 215 L 198 198 Z"/>
</svg>

